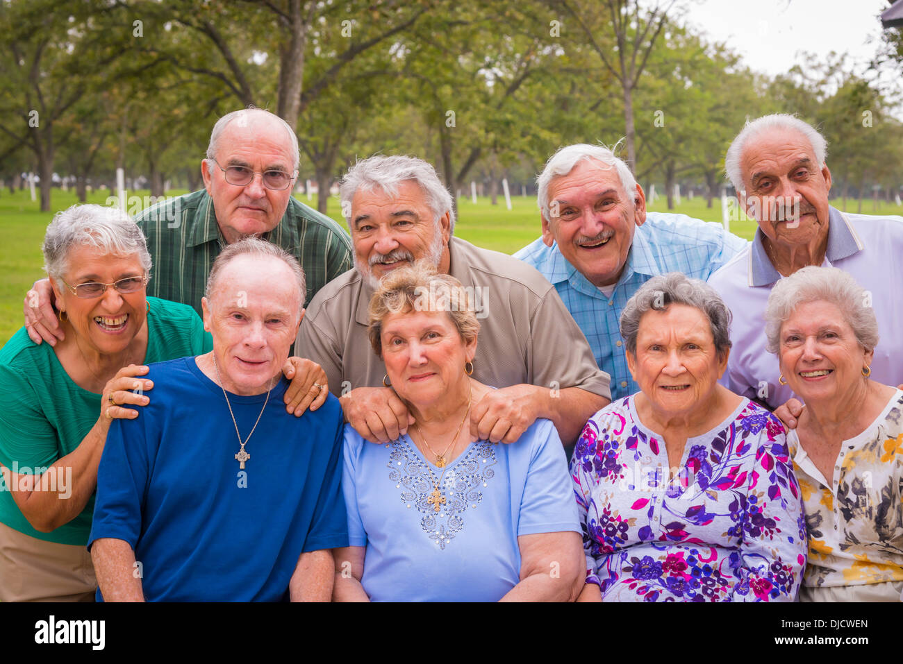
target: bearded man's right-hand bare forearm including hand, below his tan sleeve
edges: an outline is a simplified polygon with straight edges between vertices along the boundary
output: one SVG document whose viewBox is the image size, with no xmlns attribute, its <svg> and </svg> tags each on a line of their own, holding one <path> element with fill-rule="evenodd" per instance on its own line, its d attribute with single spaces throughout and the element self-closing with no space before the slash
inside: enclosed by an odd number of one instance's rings
<svg viewBox="0 0 903 664">
<path fill-rule="evenodd" d="M 537 418 L 552 420 L 564 445 L 573 445 L 583 425 L 610 403 L 579 387 L 550 390 L 537 385 L 512 385 L 490 390 L 470 410 L 470 437 L 513 443 Z"/>
</svg>

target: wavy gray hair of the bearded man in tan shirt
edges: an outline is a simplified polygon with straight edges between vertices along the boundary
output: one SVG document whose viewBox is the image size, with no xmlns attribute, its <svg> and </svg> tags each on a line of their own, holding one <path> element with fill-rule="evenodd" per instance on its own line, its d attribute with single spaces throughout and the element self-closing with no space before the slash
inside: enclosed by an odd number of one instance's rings
<svg viewBox="0 0 903 664">
<path fill-rule="evenodd" d="M 396 196 L 398 185 L 408 181 L 416 182 L 420 189 L 423 189 L 427 203 L 433 211 L 434 222 L 438 224 L 442 215 L 449 213 L 449 233 L 454 235 L 452 194 L 442 184 L 442 180 L 439 180 L 433 165 L 417 157 L 406 155 L 386 157 L 382 154 L 358 161 L 349 168 L 341 181 L 339 189 L 341 208 L 352 232 L 354 227 L 351 224 L 351 201 L 359 189 L 371 191 L 378 187 L 389 196 Z"/>
</svg>

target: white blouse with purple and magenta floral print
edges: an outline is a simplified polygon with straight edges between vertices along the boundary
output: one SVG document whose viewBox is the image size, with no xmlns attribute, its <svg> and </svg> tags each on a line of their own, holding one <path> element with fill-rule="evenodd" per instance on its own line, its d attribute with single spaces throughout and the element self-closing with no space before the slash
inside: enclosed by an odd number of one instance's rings
<svg viewBox="0 0 903 664">
<path fill-rule="evenodd" d="M 571 460 L 587 583 L 605 601 L 792 602 L 805 521 L 780 420 L 746 399 L 690 438 L 668 469 L 665 441 L 633 397 L 586 423 Z"/>
</svg>

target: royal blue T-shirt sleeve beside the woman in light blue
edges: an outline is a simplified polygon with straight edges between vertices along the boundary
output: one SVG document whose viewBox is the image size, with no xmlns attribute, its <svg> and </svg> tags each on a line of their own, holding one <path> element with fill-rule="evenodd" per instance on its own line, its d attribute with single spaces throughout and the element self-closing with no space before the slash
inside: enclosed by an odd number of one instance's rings
<svg viewBox="0 0 903 664">
<path fill-rule="evenodd" d="M 335 400 L 335 397 L 330 396 L 328 399 Z M 311 529 L 304 540 L 303 553 L 348 546 L 348 517 L 341 493 L 342 418 L 338 400 L 335 410 L 337 414 L 334 420 L 329 427 L 325 427 L 328 433 L 322 435 L 325 439 L 321 444 L 326 444 L 327 440 L 331 442 L 330 457 L 320 486 L 320 495 L 317 497 L 317 506 L 314 508 Z"/>
</svg>

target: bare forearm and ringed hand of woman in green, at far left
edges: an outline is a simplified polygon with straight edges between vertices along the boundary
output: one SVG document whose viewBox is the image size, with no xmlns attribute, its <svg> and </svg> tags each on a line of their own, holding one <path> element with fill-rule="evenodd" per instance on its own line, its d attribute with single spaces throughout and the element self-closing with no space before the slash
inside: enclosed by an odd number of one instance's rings
<svg viewBox="0 0 903 664">
<path fill-rule="evenodd" d="M 146 405 L 150 400 L 144 391 L 154 387 L 153 381 L 136 378 L 146 374 L 146 366 L 130 364 L 120 369 L 116 377 L 107 383 L 100 401 L 100 416 L 88 435 L 65 457 L 58 459 L 42 475 L 13 473 L 4 467 L 4 475 L 9 477 L 13 500 L 25 519 L 35 530 L 51 532 L 77 517 L 94 493 L 98 484 L 98 465 L 107 440 L 107 431 L 113 418 L 134 420 L 138 411 L 111 406 L 112 394 L 117 404 Z M 140 388 L 140 392 L 132 392 Z M 48 488 L 54 488 L 48 491 Z"/>
</svg>

